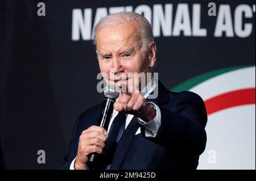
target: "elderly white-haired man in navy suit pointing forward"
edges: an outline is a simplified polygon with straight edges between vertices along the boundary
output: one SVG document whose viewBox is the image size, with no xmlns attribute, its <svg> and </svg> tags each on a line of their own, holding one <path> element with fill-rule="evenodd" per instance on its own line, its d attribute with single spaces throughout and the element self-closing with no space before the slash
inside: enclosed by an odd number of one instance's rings
<svg viewBox="0 0 256 181">
<path fill-rule="evenodd" d="M 135 12 L 106 16 L 94 29 L 94 43 L 108 85 L 122 88 L 133 79 L 129 73 L 152 72 L 156 44 L 143 16 Z M 121 81 L 120 75 L 126 78 Z M 146 87 L 138 86 L 141 79 L 134 82 L 133 90 L 137 86 L 139 91 L 120 92 L 108 130 L 97 126 L 102 104 L 78 117 L 61 169 L 88 169 L 92 153 L 102 156 L 98 169 L 196 169 L 207 140 L 203 100 L 189 91 L 168 91 L 153 79 L 147 79 Z M 148 99 L 155 90 L 158 97 Z M 114 134 L 117 144 L 106 149 Z"/>
</svg>

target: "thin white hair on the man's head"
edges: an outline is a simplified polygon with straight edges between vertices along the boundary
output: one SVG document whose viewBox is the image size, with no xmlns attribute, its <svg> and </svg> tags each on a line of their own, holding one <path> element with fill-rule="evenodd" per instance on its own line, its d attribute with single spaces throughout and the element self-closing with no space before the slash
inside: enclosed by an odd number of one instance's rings
<svg viewBox="0 0 256 181">
<path fill-rule="evenodd" d="M 96 44 L 96 33 L 100 28 L 118 26 L 119 24 L 125 24 L 130 22 L 137 22 L 140 27 L 139 39 L 142 41 L 142 48 L 144 50 L 150 49 L 150 44 L 154 42 L 154 36 L 150 23 L 146 18 L 136 12 L 118 12 L 102 18 L 97 23 L 93 31 L 93 44 Z"/>
</svg>

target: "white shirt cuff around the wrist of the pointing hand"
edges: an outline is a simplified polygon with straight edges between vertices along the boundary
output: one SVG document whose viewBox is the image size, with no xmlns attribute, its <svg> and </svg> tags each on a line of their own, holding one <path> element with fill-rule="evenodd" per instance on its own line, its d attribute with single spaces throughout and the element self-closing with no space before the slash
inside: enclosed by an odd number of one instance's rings
<svg viewBox="0 0 256 181">
<path fill-rule="evenodd" d="M 152 102 L 149 102 L 152 103 Z M 155 137 L 156 134 L 158 133 L 158 129 L 161 125 L 161 111 L 160 108 L 155 104 L 156 108 L 156 116 L 154 117 L 154 119 L 152 119 L 149 122 L 143 121 L 141 118 L 137 117 L 139 124 L 143 125 L 143 127 L 145 127 L 145 136 L 146 137 Z"/>
</svg>

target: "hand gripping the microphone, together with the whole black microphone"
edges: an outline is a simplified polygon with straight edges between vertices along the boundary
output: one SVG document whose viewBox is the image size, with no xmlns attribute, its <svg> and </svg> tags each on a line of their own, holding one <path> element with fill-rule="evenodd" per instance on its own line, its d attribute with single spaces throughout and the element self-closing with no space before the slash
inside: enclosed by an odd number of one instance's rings
<svg viewBox="0 0 256 181">
<path fill-rule="evenodd" d="M 119 89 L 112 85 L 104 89 L 104 101 L 101 108 L 98 125 L 86 129 L 79 138 L 79 147 L 75 161 L 75 169 L 91 169 L 97 166 L 98 155 L 103 153 L 110 116 L 114 109 L 114 102 L 118 98 Z"/>
</svg>

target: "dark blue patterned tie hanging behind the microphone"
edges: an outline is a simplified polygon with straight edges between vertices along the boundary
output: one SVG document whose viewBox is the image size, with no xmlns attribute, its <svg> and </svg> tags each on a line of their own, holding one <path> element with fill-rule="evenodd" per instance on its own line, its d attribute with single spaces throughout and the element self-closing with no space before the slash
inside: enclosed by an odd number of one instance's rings
<svg viewBox="0 0 256 181">
<path fill-rule="evenodd" d="M 106 158 L 106 170 L 109 170 L 114 157 L 115 149 L 120 141 L 123 132 L 125 132 L 126 115 L 123 112 L 119 112 L 113 120 L 113 123 L 109 129 L 109 134 L 106 140 L 104 148 Z"/>
</svg>

